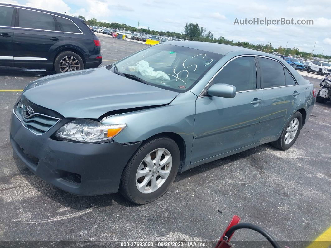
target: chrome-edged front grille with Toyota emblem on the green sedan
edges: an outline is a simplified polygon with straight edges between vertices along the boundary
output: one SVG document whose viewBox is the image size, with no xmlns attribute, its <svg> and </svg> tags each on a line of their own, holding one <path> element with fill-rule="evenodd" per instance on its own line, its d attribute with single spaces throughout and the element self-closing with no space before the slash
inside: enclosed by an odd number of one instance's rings
<svg viewBox="0 0 331 248">
<path fill-rule="evenodd" d="M 43 114 L 29 113 L 28 106 L 25 106 L 22 101 L 17 104 L 16 109 L 14 110 L 14 114 L 21 121 L 22 125 L 24 125 L 27 129 L 37 135 L 44 134 L 47 132 L 52 126 L 54 126 L 57 122 L 60 121 L 59 118 L 46 116 Z"/>
</svg>

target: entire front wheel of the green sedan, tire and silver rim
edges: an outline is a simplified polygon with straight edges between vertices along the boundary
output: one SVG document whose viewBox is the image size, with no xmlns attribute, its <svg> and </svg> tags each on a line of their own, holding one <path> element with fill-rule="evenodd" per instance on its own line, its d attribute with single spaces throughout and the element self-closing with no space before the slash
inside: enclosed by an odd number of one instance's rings
<svg viewBox="0 0 331 248">
<path fill-rule="evenodd" d="M 178 172 L 179 148 L 167 136 L 146 140 L 124 168 L 119 192 L 137 204 L 152 202 L 166 193 Z"/>
</svg>

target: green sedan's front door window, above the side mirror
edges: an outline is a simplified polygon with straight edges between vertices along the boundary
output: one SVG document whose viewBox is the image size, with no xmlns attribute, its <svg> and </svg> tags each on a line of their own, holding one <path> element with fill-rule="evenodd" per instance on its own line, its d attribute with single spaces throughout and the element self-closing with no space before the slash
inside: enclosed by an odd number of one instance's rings
<svg viewBox="0 0 331 248">
<path fill-rule="evenodd" d="M 213 83 L 227 83 L 238 91 L 256 89 L 254 57 L 240 57 L 227 64 L 213 79 Z"/>
</svg>

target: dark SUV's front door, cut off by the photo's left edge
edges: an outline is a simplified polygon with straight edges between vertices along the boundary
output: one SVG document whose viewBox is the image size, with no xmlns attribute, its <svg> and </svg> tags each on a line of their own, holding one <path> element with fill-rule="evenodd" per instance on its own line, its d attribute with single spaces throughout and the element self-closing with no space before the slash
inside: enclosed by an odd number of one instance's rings
<svg viewBox="0 0 331 248">
<path fill-rule="evenodd" d="M 0 6 L 0 66 L 14 66 L 15 13 L 16 8 Z"/>
</svg>

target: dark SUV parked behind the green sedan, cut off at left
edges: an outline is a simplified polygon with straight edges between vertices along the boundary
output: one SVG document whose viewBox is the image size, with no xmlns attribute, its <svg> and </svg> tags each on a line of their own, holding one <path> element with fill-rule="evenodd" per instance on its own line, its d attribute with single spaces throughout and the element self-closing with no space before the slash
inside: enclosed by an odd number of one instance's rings
<svg viewBox="0 0 331 248">
<path fill-rule="evenodd" d="M 98 67 L 100 50 L 80 18 L 0 3 L 0 66 L 77 71 Z"/>
</svg>

